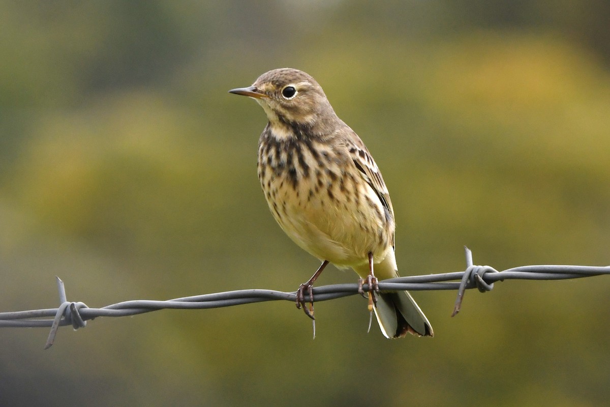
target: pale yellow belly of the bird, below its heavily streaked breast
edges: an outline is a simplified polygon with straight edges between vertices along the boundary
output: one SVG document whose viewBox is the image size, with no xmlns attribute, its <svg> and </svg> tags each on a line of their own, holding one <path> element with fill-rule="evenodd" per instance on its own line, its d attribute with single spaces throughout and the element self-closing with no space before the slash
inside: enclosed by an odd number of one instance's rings
<svg viewBox="0 0 610 407">
<path fill-rule="evenodd" d="M 328 181 L 317 189 L 306 182 L 295 189 L 281 178 L 265 181 L 262 184 L 271 213 L 303 250 L 338 267 L 367 264 L 370 252 L 376 262 L 385 258 L 389 231 L 381 218 L 383 209 L 364 198 L 373 193 L 366 190 L 368 185 L 353 185 L 361 189 L 361 198 L 356 200 L 352 194 L 347 200 L 339 187 Z"/>
</svg>

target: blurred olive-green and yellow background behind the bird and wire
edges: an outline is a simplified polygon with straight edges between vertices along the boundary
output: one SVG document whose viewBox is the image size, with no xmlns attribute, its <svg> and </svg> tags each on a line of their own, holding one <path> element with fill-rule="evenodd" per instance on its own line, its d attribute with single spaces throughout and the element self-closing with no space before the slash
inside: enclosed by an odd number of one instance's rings
<svg viewBox="0 0 610 407">
<path fill-rule="evenodd" d="M 264 112 L 312 74 L 381 167 L 401 274 L 610 264 L 610 3 L 1 1 L 0 311 L 291 291 L 318 267 L 256 176 Z M 352 283 L 328 268 L 320 284 Z M 416 292 L 433 339 L 366 300 L 0 331 L 0 405 L 599 406 L 605 277 Z"/>
</svg>

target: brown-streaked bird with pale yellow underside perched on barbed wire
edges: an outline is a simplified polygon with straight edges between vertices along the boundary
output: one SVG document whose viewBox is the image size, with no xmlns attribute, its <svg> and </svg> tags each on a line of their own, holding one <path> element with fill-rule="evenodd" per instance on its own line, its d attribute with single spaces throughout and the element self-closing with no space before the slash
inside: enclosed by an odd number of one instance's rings
<svg viewBox="0 0 610 407">
<path fill-rule="evenodd" d="M 267 204 L 290 239 L 322 262 L 296 291 L 297 308 L 315 319 L 312 287 L 330 263 L 352 268 L 362 295 L 367 284 L 368 309 L 385 337 L 434 336 L 409 292 L 379 291 L 378 279 L 398 277 L 392 201 L 373 156 L 320 84 L 279 68 L 229 93 L 253 98 L 267 114 L 257 162 Z"/>
</svg>

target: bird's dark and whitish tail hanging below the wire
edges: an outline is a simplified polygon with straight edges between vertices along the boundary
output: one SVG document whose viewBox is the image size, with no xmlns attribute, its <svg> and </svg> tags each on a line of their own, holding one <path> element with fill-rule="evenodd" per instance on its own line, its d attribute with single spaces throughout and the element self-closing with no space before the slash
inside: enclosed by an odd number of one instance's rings
<svg viewBox="0 0 610 407">
<path fill-rule="evenodd" d="M 380 292 L 374 309 L 379 328 L 387 338 L 400 338 L 407 333 L 434 336 L 426 315 L 408 291 Z"/>
</svg>

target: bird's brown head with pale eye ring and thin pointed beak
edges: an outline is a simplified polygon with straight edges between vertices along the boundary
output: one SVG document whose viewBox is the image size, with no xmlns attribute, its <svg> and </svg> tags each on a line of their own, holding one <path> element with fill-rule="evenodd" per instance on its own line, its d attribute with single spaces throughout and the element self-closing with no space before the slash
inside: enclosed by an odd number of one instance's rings
<svg viewBox="0 0 610 407">
<path fill-rule="evenodd" d="M 318 127 L 339 120 L 318 82 L 300 70 L 271 70 L 259 76 L 252 86 L 229 92 L 255 99 L 272 126 Z"/>
</svg>

